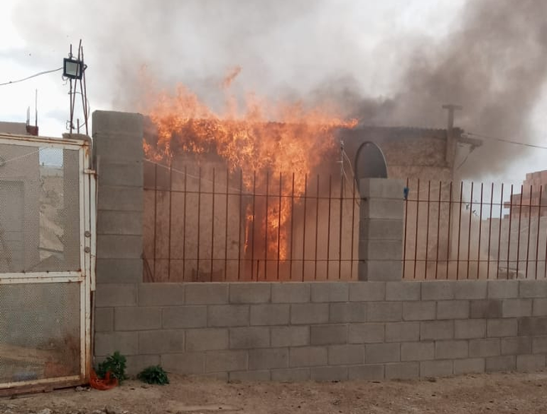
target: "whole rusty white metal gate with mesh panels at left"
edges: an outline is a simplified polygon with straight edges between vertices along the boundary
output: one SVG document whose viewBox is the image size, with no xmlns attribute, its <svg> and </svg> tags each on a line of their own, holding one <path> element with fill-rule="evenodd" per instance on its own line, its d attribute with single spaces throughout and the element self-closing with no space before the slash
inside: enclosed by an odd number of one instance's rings
<svg viewBox="0 0 547 414">
<path fill-rule="evenodd" d="M 89 379 L 90 142 L 0 134 L 0 395 Z"/>
</svg>

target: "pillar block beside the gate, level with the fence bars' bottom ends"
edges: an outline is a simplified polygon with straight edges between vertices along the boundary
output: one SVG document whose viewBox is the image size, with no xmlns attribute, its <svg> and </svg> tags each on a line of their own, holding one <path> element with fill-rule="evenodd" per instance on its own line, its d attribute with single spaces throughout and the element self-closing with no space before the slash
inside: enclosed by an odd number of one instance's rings
<svg viewBox="0 0 547 414">
<path fill-rule="evenodd" d="M 97 285 L 105 283 L 141 283 L 141 258 L 97 258 Z"/>
</svg>

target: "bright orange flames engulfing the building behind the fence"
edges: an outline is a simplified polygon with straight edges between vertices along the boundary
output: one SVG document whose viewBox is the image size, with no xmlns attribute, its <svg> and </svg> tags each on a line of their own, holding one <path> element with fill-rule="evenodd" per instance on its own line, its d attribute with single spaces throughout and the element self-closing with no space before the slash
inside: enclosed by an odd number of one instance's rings
<svg viewBox="0 0 547 414">
<path fill-rule="evenodd" d="M 241 67 L 234 68 L 224 78 L 222 89 L 229 88 L 240 71 Z M 249 228 L 254 219 L 256 231 L 266 236 L 267 253 L 278 254 L 283 260 L 288 257 L 291 202 L 279 194 L 303 195 L 305 176 L 335 148 L 333 129 L 351 128 L 357 121 L 344 120 L 327 107 L 308 109 L 302 102 L 272 104 L 255 94 L 247 94 L 244 108 L 240 110 L 237 100 L 226 90 L 225 93 L 224 110 L 217 114 L 184 85 L 178 85 L 174 92 L 151 89 L 143 112 L 156 125 L 158 138 L 155 146 L 144 143 L 146 158 L 170 159 L 176 151 L 216 152 L 226 160 L 229 170 L 247 172 L 243 175 L 246 190 L 255 187 L 267 191 L 268 186 L 276 187 L 270 194 L 277 196 L 271 197 L 261 222 L 253 217 L 251 207 L 247 208 L 245 249 L 249 246 Z M 253 171 L 256 175 L 249 174 Z M 287 172 L 294 175 L 289 177 Z M 281 188 L 280 173 L 285 174 Z M 270 179 L 267 185 L 265 176 Z"/>
</svg>

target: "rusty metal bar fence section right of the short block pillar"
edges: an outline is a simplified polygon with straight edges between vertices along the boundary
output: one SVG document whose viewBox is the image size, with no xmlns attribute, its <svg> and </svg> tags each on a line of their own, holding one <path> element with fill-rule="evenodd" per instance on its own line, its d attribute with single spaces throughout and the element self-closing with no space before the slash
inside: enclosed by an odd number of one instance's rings
<svg viewBox="0 0 547 414">
<path fill-rule="evenodd" d="M 407 180 L 406 279 L 547 277 L 542 185 Z"/>
</svg>

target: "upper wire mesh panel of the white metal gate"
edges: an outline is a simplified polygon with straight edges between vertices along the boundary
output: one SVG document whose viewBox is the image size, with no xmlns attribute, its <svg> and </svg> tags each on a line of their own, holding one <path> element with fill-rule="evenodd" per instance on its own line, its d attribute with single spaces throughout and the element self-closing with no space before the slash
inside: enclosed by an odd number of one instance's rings
<svg viewBox="0 0 547 414">
<path fill-rule="evenodd" d="M 75 149 L 0 143 L 0 273 L 80 270 Z"/>
</svg>

